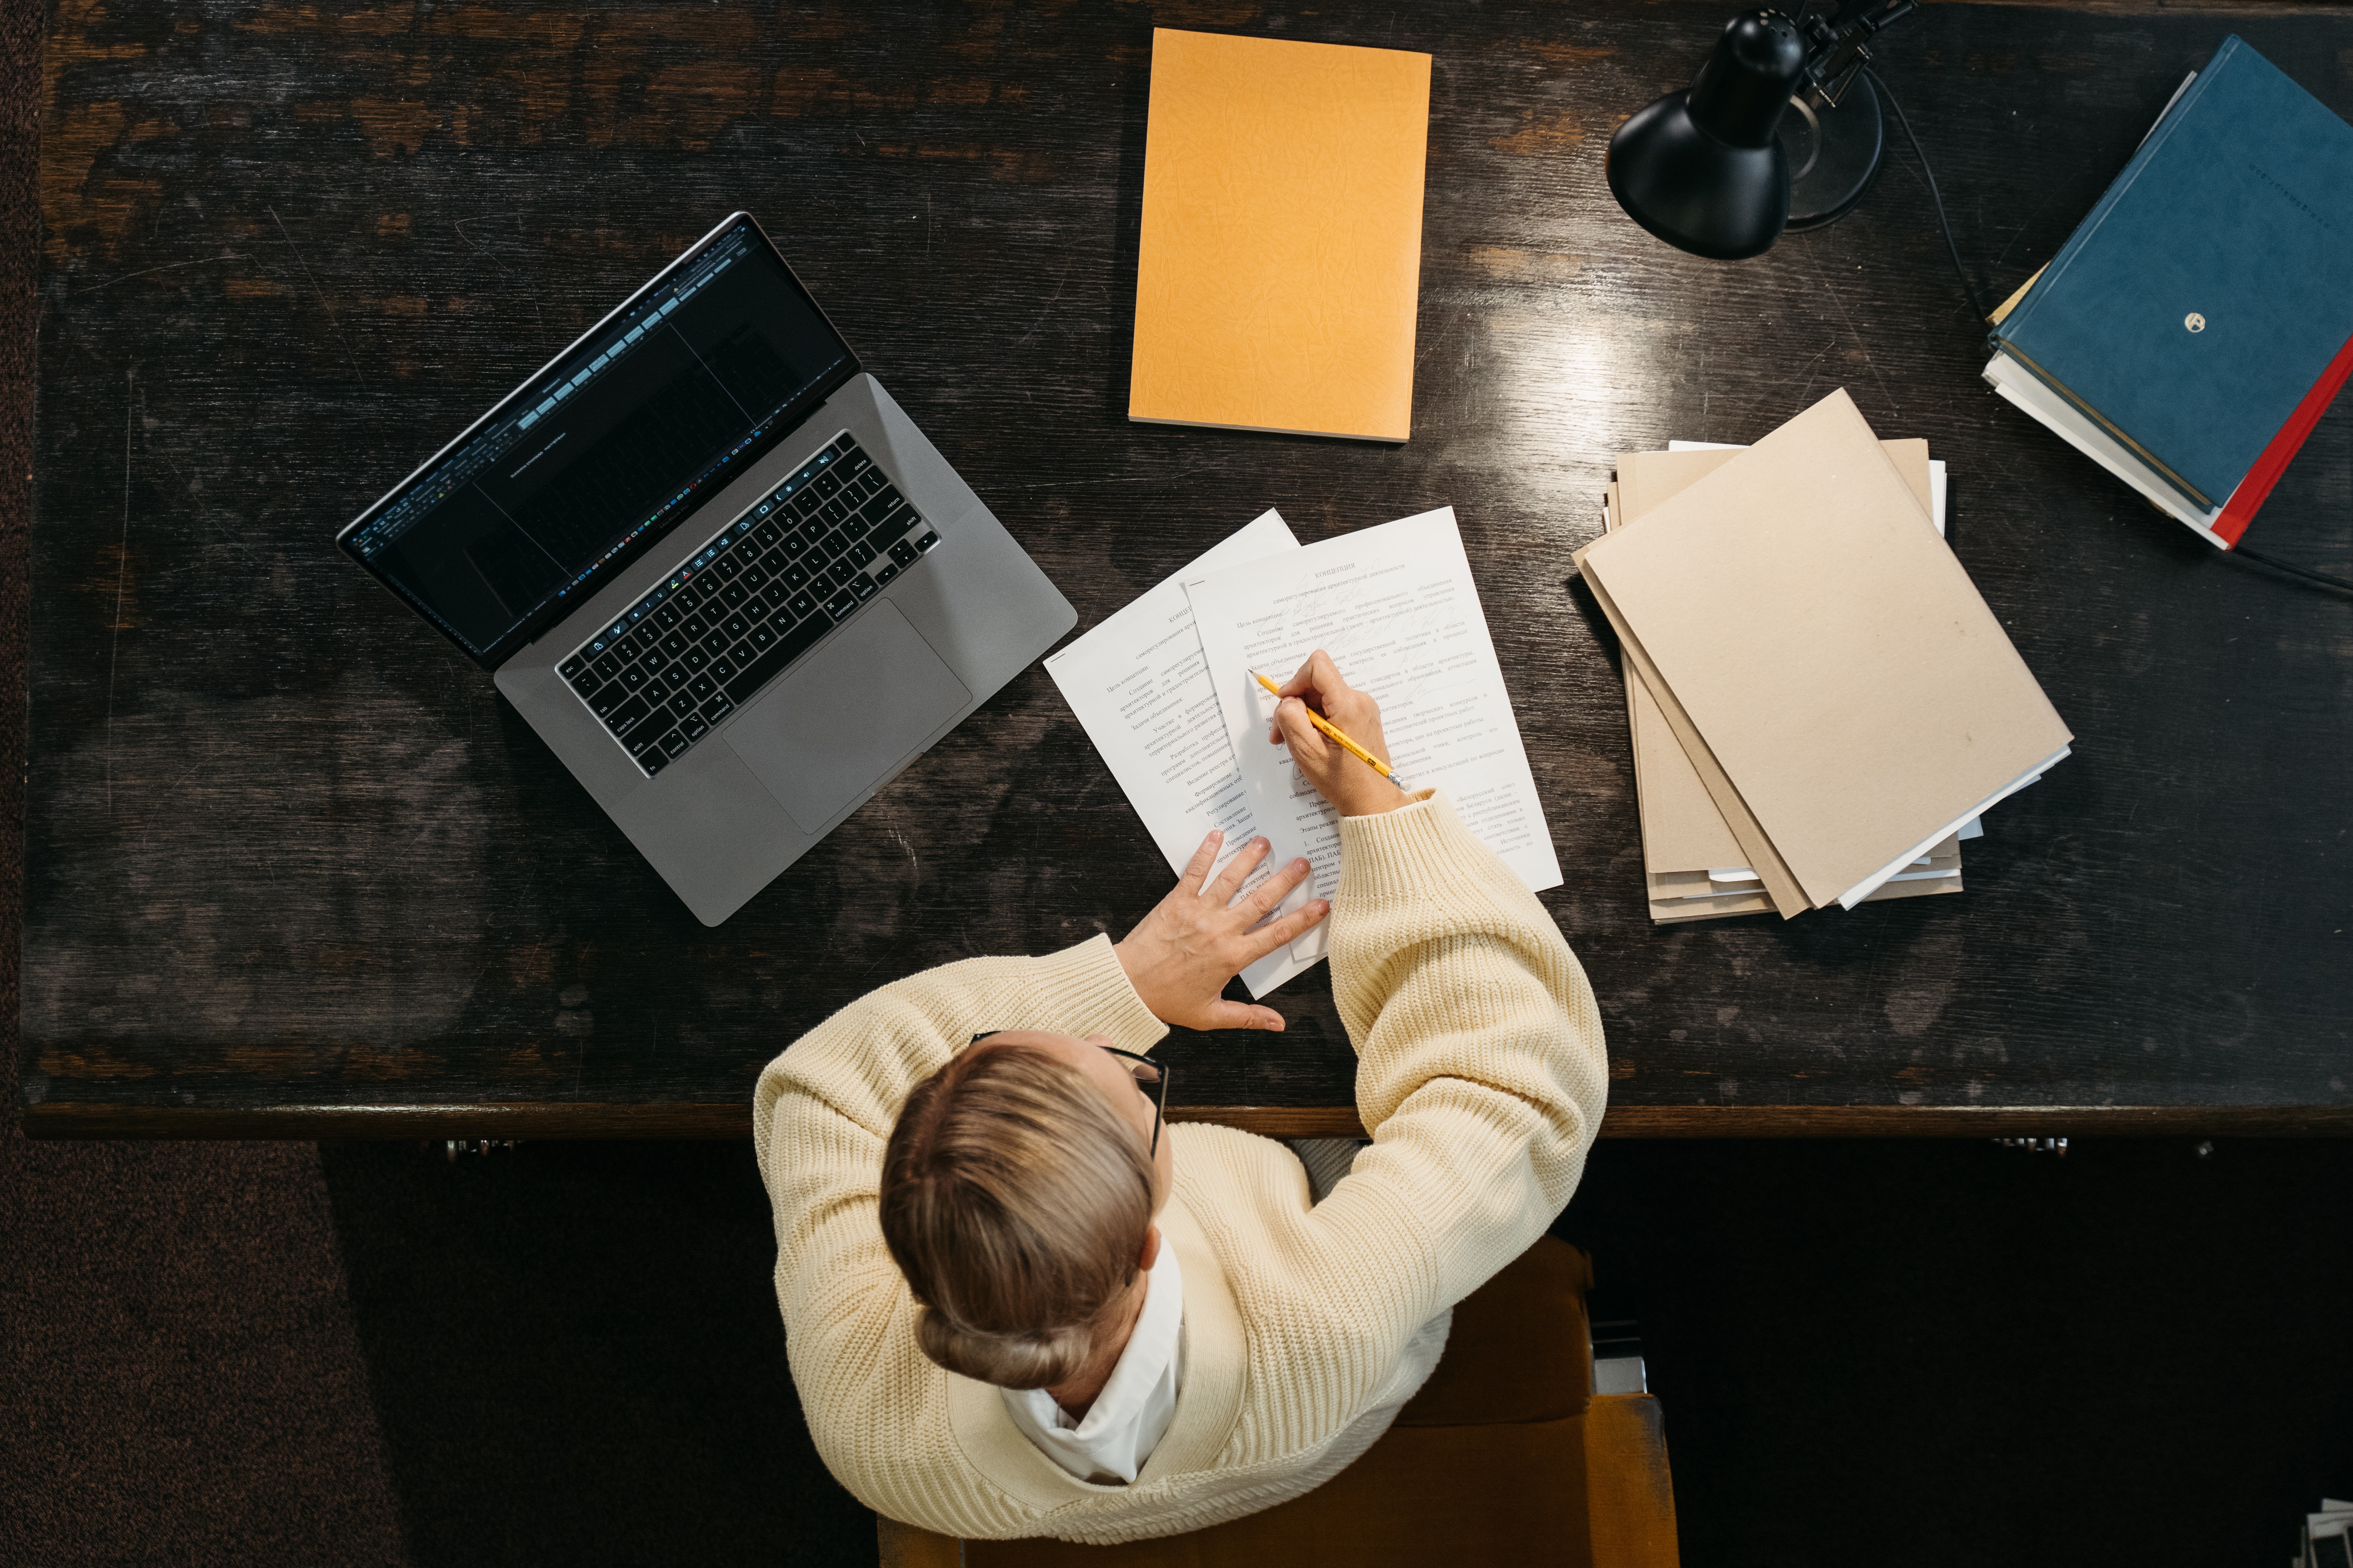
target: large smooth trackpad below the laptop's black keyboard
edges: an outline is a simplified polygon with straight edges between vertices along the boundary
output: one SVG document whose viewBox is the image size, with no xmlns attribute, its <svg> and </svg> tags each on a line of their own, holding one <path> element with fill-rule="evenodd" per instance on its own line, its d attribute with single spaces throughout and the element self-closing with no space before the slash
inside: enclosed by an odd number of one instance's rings
<svg viewBox="0 0 2353 1568">
<path fill-rule="evenodd" d="M 972 689 L 922 632 L 875 604 L 760 693 L 727 726 L 727 745 L 802 832 L 816 832 L 967 703 Z"/>
</svg>

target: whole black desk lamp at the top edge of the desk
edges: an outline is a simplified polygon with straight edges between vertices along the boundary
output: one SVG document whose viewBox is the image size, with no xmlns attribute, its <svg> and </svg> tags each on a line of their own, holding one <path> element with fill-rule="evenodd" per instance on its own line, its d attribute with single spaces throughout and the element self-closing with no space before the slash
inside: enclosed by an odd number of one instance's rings
<svg viewBox="0 0 2353 1568">
<path fill-rule="evenodd" d="M 1734 16 L 1687 92 L 1609 139 L 1609 195 L 1668 244 L 1715 261 L 1845 216 L 1887 158 L 1868 42 L 1913 7 L 1845 0 L 1831 16 Z"/>
</svg>

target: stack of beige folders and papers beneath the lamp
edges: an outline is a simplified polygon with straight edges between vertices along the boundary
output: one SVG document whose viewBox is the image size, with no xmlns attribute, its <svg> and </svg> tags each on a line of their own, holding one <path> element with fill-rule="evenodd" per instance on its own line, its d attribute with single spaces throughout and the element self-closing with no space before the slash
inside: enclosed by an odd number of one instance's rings
<svg viewBox="0 0 2353 1568">
<path fill-rule="evenodd" d="M 1755 447 L 1619 456 L 1577 552 L 1626 656 L 1654 922 L 1960 891 L 2073 738 L 1946 548 L 1927 442 L 1840 390 Z"/>
</svg>

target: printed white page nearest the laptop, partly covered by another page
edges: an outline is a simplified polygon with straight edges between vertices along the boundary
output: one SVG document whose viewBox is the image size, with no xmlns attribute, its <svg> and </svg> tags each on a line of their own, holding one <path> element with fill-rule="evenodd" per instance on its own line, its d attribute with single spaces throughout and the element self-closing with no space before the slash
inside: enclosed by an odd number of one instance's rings
<svg viewBox="0 0 2353 1568">
<path fill-rule="evenodd" d="M 1259 832 L 1181 578 L 1289 550 L 1299 550 L 1299 541 L 1282 517 L 1259 512 L 1240 534 L 1045 661 L 1172 872 L 1184 872 L 1212 827 L 1226 835 L 1219 865 Z"/>
</svg>

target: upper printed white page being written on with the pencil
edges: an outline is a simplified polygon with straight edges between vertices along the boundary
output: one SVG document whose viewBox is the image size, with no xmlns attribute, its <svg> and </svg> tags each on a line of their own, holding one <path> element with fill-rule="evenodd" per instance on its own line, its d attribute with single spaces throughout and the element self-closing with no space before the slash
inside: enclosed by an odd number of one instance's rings
<svg viewBox="0 0 2353 1568">
<path fill-rule="evenodd" d="M 1313 875 L 1285 900 L 1339 891 L 1339 813 L 1266 741 L 1275 698 L 1252 668 L 1282 684 L 1325 649 L 1351 686 L 1381 703 L 1388 762 L 1407 788 L 1438 785 L 1464 825 L 1529 886 L 1560 886 L 1553 832 L 1520 745 L 1504 670 L 1494 661 L 1454 508 L 1325 538 L 1289 555 L 1186 574 L 1193 630 L 1240 759 L 1268 863 L 1306 856 Z M 1351 766 L 1362 766 L 1351 762 Z M 1289 973 L 1322 959 L 1327 931 L 1292 943 Z M 1273 980 L 1287 980 L 1282 973 Z M 1245 976 L 1252 994 L 1266 994 Z"/>
</svg>

